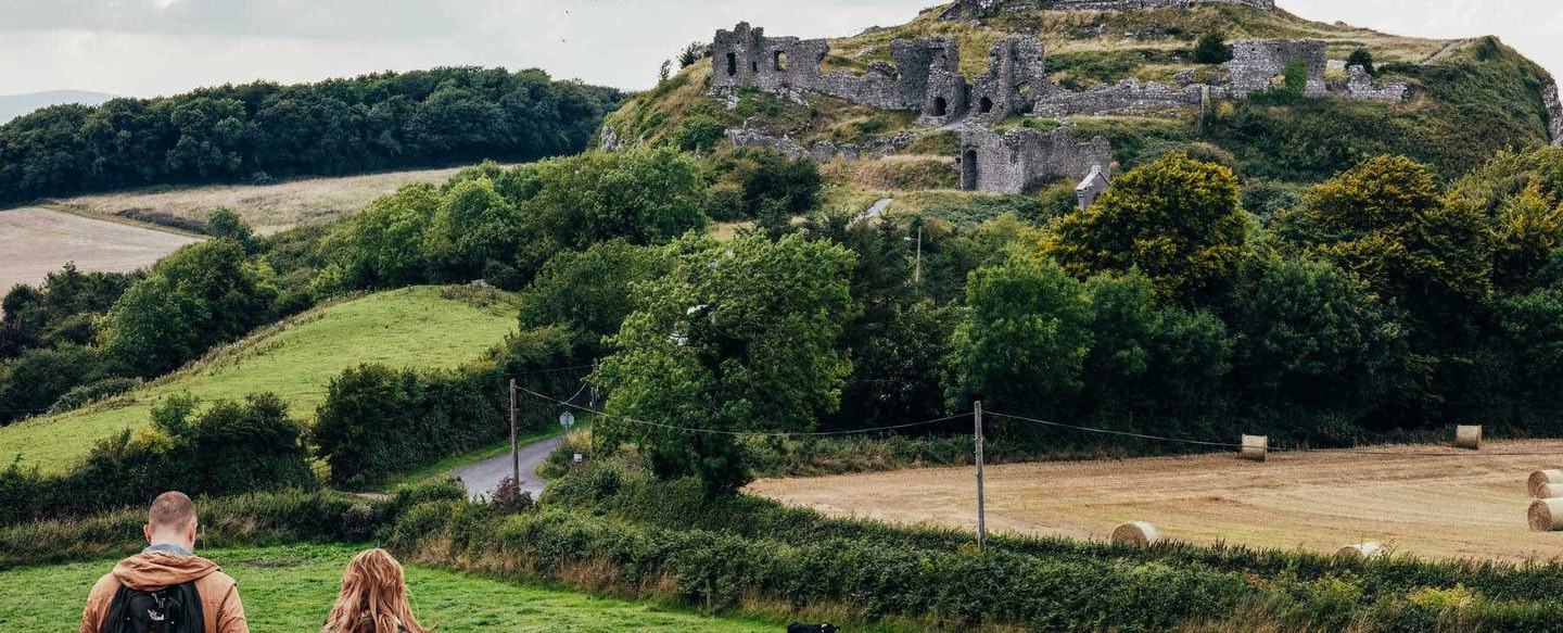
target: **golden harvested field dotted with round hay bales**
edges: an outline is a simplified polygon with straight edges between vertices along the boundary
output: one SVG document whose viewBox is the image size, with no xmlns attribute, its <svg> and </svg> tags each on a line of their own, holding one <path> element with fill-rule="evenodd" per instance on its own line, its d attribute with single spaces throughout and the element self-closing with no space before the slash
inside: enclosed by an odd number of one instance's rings
<svg viewBox="0 0 1563 633">
<path fill-rule="evenodd" d="M 1563 464 L 1563 441 L 1372 450 L 988 466 L 988 528 L 1105 541 L 1144 520 L 1196 544 L 1330 553 L 1375 541 L 1435 560 L 1563 556 L 1563 533 L 1530 531 L 1525 519 L 1525 480 Z M 832 516 L 977 525 L 971 467 L 761 480 L 749 492 Z"/>
</svg>

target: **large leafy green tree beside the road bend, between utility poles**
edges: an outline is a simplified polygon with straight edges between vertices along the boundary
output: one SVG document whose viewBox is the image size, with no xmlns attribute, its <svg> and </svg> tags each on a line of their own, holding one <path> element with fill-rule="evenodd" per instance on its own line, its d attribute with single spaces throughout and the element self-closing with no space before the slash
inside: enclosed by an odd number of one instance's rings
<svg viewBox="0 0 1563 633">
<path fill-rule="evenodd" d="M 853 317 L 852 252 L 802 236 L 671 245 L 672 272 L 639 286 L 597 380 L 613 416 L 717 431 L 810 431 L 839 406 L 852 369 L 836 347 Z M 660 477 L 696 475 L 710 494 L 750 475 L 731 436 L 603 417 L 608 452 L 636 444 Z"/>
</svg>

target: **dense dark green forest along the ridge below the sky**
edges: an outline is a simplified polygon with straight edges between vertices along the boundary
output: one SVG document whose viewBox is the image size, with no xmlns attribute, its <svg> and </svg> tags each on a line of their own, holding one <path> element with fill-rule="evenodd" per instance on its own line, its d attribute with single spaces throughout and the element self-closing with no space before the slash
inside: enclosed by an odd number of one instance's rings
<svg viewBox="0 0 1563 633">
<path fill-rule="evenodd" d="M 585 148 L 621 98 L 541 70 L 449 67 L 52 106 L 0 125 L 0 202 L 528 161 Z"/>
</svg>

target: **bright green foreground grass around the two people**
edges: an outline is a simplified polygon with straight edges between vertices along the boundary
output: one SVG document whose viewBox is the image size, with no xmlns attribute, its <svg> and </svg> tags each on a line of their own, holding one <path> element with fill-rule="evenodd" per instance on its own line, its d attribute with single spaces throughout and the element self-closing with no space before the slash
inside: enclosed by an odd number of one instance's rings
<svg viewBox="0 0 1563 633">
<path fill-rule="evenodd" d="M 341 545 L 291 545 L 202 552 L 239 581 L 253 631 L 317 631 L 331 608 L 342 567 L 356 553 Z M 0 630 L 66 631 L 113 560 L 0 572 Z M 653 605 L 516 586 L 439 569 L 410 567 L 413 611 L 441 633 L 464 631 L 775 631 L 780 627 L 666 611 Z"/>
</svg>

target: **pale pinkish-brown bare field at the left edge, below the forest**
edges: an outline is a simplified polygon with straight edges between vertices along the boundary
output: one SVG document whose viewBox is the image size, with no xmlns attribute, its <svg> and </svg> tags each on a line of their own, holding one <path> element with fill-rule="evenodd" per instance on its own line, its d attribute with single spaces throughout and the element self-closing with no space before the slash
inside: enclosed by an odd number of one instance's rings
<svg viewBox="0 0 1563 633">
<path fill-rule="evenodd" d="M 77 263 L 81 270 L 128 272 L 199 238 L 23 208 L 0 211 L 0 292 Z"/>
</svg>

